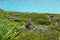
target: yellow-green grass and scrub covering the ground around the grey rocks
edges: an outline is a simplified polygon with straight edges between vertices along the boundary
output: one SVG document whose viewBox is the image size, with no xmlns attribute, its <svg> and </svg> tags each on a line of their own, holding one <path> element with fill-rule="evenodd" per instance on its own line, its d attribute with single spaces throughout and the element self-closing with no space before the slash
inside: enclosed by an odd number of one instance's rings
<svg viewBox="0 0 60 40">
<path fill-rule="evenodd" d="M 47 15 L 1 11 L 0 40 L 59 40 L 60 25 L 51 25 L 51 21 L 49 21 Z M 57 20 L 60 20 L 59 15 L 55 14 L 54 16 Z M 32 24 L 35 28 L 43 28 L 43 30 L 30 31 L 20 28 L 26 25 L 30 18 L 32 18 Z M 19 22 L 14 21 L 15 19 L 19 20 Z"/>
</svg>

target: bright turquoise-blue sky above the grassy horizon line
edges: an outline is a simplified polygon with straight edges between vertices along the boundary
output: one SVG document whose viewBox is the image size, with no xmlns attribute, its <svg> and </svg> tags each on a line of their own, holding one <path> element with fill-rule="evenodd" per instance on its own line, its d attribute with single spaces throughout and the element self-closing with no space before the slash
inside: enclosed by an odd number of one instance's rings
<svg viewBox="0 0 60 40">
<path fill-rule="evenodd" d="M 60 13 L 60 0 L 0 0 L 6 11 Z"/>
</svg>

